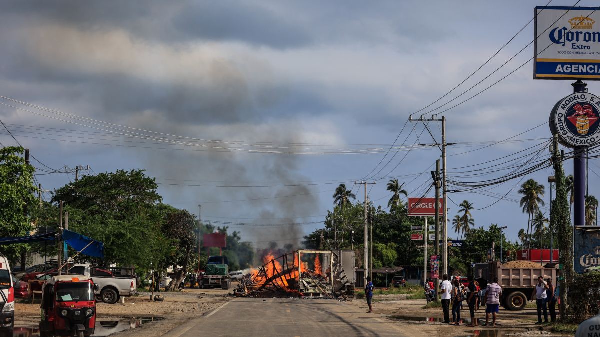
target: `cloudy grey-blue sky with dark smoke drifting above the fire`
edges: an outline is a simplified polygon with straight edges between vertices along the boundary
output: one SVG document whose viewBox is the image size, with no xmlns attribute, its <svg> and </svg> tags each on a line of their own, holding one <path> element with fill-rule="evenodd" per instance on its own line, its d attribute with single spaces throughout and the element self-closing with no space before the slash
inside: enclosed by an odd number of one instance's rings
<svg viewBox="0 0 600 337">
<path fill-rule="evenodd" d="M 588 2 L 580 5 L 594 5 Z M 556 5 L 572 4 L 559 1 Z M 433 143 L 422 125 L 406 122 L 409 114 L 469 76 L 533 13 L 533 4 L 521 1 L 499 5 L 481 1 L 40 0 L 5 1 L 0 7 L 1 95 L 114 124 L 235 141 L 218 151 L 148 140 L 109 142 L 106 136 L 91 133 L 100 130 L 0 107 L 2 121 L 10 124 L 82 132 L 48 136 L 14 130 L 44 163 L 55 168 L 90 164 L 95 171 L 147 169 L 160 183 L 182 185 L 344 180 L 359 200 L 363 191 L 352 181 L 367 177 L 385 151 L 370 155 L 231 151 L 247 141 L 301 143 L 302 148 L 316 152 L 333 146 L 314 145 L 323 143 L 343 143 L 348 148 L 370 144 L 385 150 L 404 124 L 399 143 Z M 526 46 L 532 36 L 529 25 L 481 74 L 413 117 L 463 94 Z M 437 112 L 492 85 L 531 56 L 532 50 L 527 49 L 482 87 Z M 596 89 L 593 83 L 589 89 Z M 571 90 L 566 82 L 532 80 L 527 65 L 446 112 L 448 140 L 459 143 L 449 147 L 449 167 L 476 164 L 533 145 L 511 143 L 470 153 L 475 145 L 466 142 L 501 140 L 547 121 L 554 103 Z M 405 138 L 412 129 L 415 132 Z M 430 124 L 430 131 L 439 142 L 440 126 Z M 549 137 L 547 128 L 518 138 L 544 137 Z M 10 136 L 0 135 L 0 139 L 14 145 Z M 385 183 L 392 176 L 401 176 L 409 192 L 418 191 L 427 183 L 428 174 L 403 175 L 427 173 L 437 158 L 436 148 L 398 152 L 379 174 L 383 181 L 371 189 L 371 200 L 387 205 Z M 595 165 L 592 161 L 591 167 Z M 549 174 L 542 171 L 533 177 L 543 182 Z M 65 174 L 39 177 L 47 189 L 74 179 Z M 592 186 L 596 177 L 590 179 Z M 493 191 L 514 197 L 516 190 L 510 189 L 515 183 Z M 160 186 L 165 202 L 194 213 L 197 204 L 203 203 L 207 221 L 230 222 L 232 229 L 242 230 L 244 239 L 265 245 L 278 239 L 280 246 L 298 244 L 297 237 L 320 224 L 244 227 L 239 222 L 320 221 L 324 217 L 319 216 L 333 206 L 334 189 L 335 183 L 270 188 Z M 473 193 L 451 198 L 456 203 L 469 199 L 476 208 L 495 201 Z M 452 217 L 458 207 L 453 203 L 450 207 Z M 474 216 L 478 225 L 509 225 L 510 237 L 527 222 L 518 204 L 507 201 Z"/>
</svg>

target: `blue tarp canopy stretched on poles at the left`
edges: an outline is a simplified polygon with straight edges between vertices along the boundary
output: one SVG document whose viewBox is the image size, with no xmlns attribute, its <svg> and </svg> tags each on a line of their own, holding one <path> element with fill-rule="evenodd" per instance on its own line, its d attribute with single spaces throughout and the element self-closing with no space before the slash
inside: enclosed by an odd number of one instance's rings
<svg viewBox="0 0 600 337">
<path fill-rule="evenodd" d="M 51 231 L 49 233 L 35 234 L 31 236 L 18 236 L 18 237 L 0 237 L 0 245 L 10 245 L 11 243 L 28 243 L 44 240 L 56 240 L 56 234 L 58 232 Z M 94 240 L 91 237 L 79 234 L 72 230 L 62 230 L 62 240 L 67 242 L 68 245 L 81 251 L 82 254 L 104 258 L 104 243 Z M 89 244 L 91 242 L 91 244 Z"/>
</svg>

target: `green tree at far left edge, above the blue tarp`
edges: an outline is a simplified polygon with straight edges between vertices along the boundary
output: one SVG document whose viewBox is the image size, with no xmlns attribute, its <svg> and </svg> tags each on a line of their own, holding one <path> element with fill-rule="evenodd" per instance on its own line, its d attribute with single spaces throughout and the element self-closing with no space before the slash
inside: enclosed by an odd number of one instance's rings
<svg viewBox="0 0 600 337">
<path fill-rule="evenodd" d="M 25 236 L 33 229 L 25 210 L 37 205 L 34 192 L 34 167 L 25 164 L 20 147 L 0 149 L 0 236 Z M 1 246 L 0 252 L 14 256 L 26 245 Z"/>
</svg>

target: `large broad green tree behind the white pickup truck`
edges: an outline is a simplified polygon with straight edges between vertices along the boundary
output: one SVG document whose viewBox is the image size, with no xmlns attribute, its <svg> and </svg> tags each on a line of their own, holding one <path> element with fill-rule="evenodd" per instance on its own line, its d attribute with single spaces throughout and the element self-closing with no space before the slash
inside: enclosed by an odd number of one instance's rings
<svg viewBox="0 0 600 337">
<path fill-rule="evenodd" d="M 55 191 L 52 202 L 65 201 L 69 229 L 104 242 L 104 260 L 95 262 L 143 269 L 164 262 L 173 245 L 162 231 L 169 207 L 159 207 L 157 188 L 143 170 L 118 170 L 71 182 Z M 58 209 L 52 212 L 58 215 Z M 38 227 L 55 224 L 40 222 Z"/>
</svg>

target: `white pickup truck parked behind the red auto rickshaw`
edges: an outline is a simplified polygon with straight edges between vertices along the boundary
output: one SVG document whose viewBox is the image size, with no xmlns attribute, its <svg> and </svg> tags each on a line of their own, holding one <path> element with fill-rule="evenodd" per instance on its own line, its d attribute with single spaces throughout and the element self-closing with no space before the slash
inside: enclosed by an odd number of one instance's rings
<svg viewBox="0 0 600 337">
<path fill-rule="evenodd" d="M 137 294 L 137 276 L 131 268 L 104 269 L 80 263 L 70 267 L 68 273 L 91 276 L 94 284 L 98 285 L 96 298 L 106 303 L 116 303 L 121 296 Z"/>
</svg>

